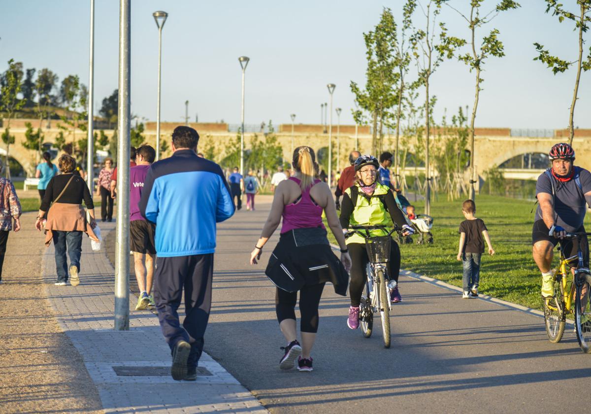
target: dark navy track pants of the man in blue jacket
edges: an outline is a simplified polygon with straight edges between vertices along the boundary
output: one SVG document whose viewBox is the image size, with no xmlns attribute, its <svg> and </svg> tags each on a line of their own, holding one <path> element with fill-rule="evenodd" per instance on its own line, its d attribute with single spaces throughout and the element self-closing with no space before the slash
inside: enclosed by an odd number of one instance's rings
<svg viewBox="0 0 591 414">
<path fill-rule="evenodd" d="M 203 335 L 212 306 L 213 253 L 158 257 L 154 277 L 154 301 L 160 328 L 170 350 L 178 341 L 191 344 L 187 365 L 197 366 L 203 351 Z M 185 318 L 180 326 L 177 309 L 184 289 Z"/>
</svg>

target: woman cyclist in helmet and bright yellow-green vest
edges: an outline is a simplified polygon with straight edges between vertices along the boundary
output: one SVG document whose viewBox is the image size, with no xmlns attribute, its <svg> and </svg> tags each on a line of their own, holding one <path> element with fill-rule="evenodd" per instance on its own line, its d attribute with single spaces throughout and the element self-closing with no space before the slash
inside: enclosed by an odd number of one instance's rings
<svg viewBox="0 0 591 414">
<path fill-rule="evenodd" d="M 349 225 L 372 226 L 384 225 L 392 227 L 395 223 L 405 232 L 403 235 L 413 234 L 411 228 L 404 218 L 404 214 L 398 208 L 394 193 L 377 179 L 379 168 L 378 160 L 372 156 L 361 156 L 355 161 L 356 183 L 343 193 L 343 202 L 340 206 L 340 225 L 343 231 Z M 387 234 L 384 230 L 372 230 L 372 236 L 383 236 Z M 351 280 L 349 284 L 349 295 L 351 306 L 347 325 L 351 329 L 359 328 L 359 302 L 363 286 L 365 286 L 365 268 L 369 258 L 365 250 L 365 239 L 361 235 L 354 234 L 347 239 L 347 247 L 351 256 Z M 400 272 L 400 248 L 392 240 L 390 248 L 390 261 L 388 263 L 389 280 L 398 282 Z M 397 303 L 402 300 L 398 287 L 392 290 L 390 300 Z"/>
</svg>

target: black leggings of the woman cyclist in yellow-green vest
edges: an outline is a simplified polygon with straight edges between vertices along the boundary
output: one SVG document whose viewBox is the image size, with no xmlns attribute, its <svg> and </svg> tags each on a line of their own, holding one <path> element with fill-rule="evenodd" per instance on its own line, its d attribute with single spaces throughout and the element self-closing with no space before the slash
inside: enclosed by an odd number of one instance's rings
<svg viewBox="0 0 591 414">
<path fill-rule="evenodd" d="M 349 255 L 351 256 L 351 281 L 349 282 L 349 295 L 351 297 L 351 306 L 359 306 L 361 300 L 361 293 L 365 287 L 367 275 L 365 268 L 367 267 L 369 258 L 365 250 L 365 243 L 350 243 Z M 392 240 L 390 244 L 390 261 L 388 262 L 388 277 L 389 280 L 394 279 L 398 282 L 398 274 L 400 273 L 400 247 L 398 243 Z"/>
</svg>

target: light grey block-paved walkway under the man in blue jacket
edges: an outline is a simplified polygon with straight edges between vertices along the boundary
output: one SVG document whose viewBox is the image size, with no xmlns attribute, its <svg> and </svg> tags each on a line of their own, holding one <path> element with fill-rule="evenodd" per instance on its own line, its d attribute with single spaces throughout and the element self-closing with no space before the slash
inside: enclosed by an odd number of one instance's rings
<svg viewBox="0 0 591 414">
<path fill-rule="evenodd" d="M 101 223 L 103 236 L 115 223 Z M 44 282 L 57 320 L 82 355 L 105 412 L 266 413 L 245 387 L 205 352 L 197 381 L 170 377 L 170 350 L 150 311 L 132 310 L 129 331 L 113 330 L 114 270 L 84 238 L 81 284 L 54 286 L 53 246 L 43 257 Z M 130 295 L 130 309 L 137 298 Z M 130 375 L 131 374 L 131 375 Z M 0 409 L 1 410 L 1 409 Z"/>
</svg>

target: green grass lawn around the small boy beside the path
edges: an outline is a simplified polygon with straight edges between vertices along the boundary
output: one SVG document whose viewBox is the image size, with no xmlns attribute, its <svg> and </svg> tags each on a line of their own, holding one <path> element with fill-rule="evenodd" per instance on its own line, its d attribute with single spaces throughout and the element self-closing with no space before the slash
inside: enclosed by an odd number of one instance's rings
<svg viewBox="0 0 591 414">
<path fill-rule="evenodd" d="M 462 263 L 456 260 L 456 255 L 458 229 L 464 219 L 463 199 L 449 202 L 444 198 L 439 195 L 439 200 L 431 204 L 434 243 L 401 245 L 401 268 L 461 287 Z M 424 211 L 424 202 L 413 204 L 418 213 Z M 541 309 L 541 276 L 531 257 L 533 206 L 534 203 L 527 200 L 488 195 L 476 197 L 476 216 L 485 222 L 496 251 L 494 256 L 483 254 L 479 290 L 499 299 Z M 588 219 L 585 222 L 589 228 Z M 329 237 L 335 242 L 330 231 Z M 417 236 L 413 238 L 417 240 Z"/>
</svg>

